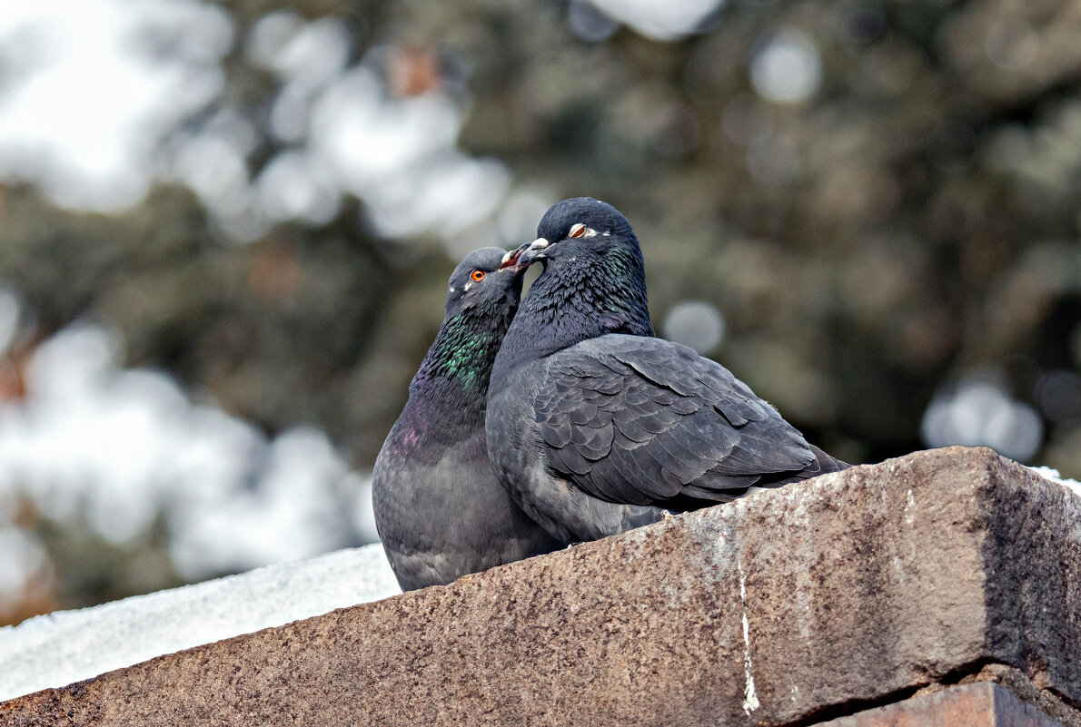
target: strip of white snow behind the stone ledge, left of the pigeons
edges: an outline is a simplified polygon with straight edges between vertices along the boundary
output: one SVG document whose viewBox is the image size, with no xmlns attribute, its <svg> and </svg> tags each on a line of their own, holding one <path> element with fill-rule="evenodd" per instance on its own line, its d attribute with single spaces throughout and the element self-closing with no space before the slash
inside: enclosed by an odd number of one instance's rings
<svg viewBox="0 0 1081 727">
<path fill-rule="evenodd" d="M 0 629 L 0 701 L 401 593 L 378 543 Z"/>
</svg>

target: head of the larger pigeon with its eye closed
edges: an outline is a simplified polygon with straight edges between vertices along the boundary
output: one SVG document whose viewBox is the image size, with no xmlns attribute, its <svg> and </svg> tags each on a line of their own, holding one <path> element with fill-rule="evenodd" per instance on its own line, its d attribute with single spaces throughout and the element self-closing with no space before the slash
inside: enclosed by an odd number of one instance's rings
<svg viewBox="0 0 1081 727">
<path fill-rule="evenodd" d="M 612 248 L 638 254 L 638 239 L 627 218 L 608 202 L 575 197 L 548 210 L 537 225 L 537 239 L 515 251 L 517 256 L 508 255 L 513 261 L 505 265 L 521 270 L 538 260 L 574 257 L 588 261 Z"/>
</svg>

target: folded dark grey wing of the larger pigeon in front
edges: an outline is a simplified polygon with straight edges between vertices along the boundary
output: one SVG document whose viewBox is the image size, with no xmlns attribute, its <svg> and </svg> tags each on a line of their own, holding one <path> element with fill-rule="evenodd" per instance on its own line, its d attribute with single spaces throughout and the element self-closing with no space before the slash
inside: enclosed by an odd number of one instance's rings
<svg viewBox="0 0 1081 727">
<path fill-rule="evenodd" d="M 602 336 L 553 354 L 544 371 L 533 410 L 548 467 L 601 499 L 724 501 L 786 473 L 817 473 L 802 434 L 685 346 Z"/>
</svg>

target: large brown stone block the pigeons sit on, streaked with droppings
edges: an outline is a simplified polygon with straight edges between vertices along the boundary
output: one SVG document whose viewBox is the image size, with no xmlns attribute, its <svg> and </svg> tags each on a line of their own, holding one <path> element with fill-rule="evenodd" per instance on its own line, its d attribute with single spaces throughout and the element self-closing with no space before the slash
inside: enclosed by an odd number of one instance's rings
<svg viewBox="0 0 1081 727">
<path fill-rule="evenodd" d="M 1071 709 L 1079 659 L 1081 498 L 950 447 L 160 657 L 0 724 L 810 724 L 995 664 Z"/>
</svg>

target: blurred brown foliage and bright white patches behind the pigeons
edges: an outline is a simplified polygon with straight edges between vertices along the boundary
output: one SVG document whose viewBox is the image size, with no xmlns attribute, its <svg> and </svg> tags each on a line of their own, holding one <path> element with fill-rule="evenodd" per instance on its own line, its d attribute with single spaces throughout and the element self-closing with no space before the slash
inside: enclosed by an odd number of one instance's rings
<svg viewBox="0 0 1081 727">
<path fill-rule="evenodd" d="M 0 623 L 371 541 L 466 252 L 620 208 L 658 333 L 852 462 L 1081 475 L 1067 0 L 0 13 Z"/>
</svg>

